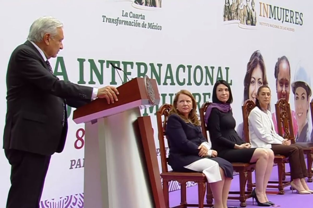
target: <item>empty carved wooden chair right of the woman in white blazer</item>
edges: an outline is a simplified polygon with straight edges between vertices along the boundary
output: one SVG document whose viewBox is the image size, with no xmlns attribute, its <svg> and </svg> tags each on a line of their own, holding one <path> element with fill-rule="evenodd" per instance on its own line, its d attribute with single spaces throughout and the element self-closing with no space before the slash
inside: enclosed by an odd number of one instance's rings
<svg viewBox="0 0 313 208">
<path fill-rule="evenodd" d="M 312 108 L 312 105 L 311 105 Z M 285 139 L 290 139 L 291 143 L 295 143 L 295 134 L 293 132 L 292 117 L 290 104 L 285 99 L 280 99 L 275 104 L 278 134 Z M 284 129 L 284 134 L 282 131 Z M 313 143 L 297 142 L 297 145 L 303 148 L 306 155 L 308 182 L 312 182 L 312 162 L 313 162 Z"/>
</svg>

